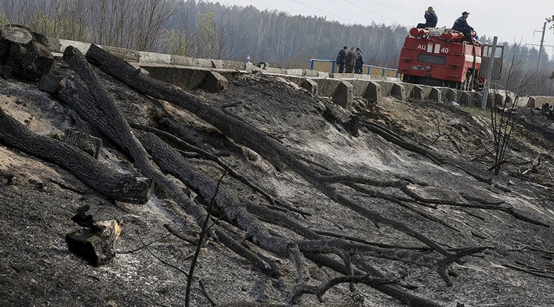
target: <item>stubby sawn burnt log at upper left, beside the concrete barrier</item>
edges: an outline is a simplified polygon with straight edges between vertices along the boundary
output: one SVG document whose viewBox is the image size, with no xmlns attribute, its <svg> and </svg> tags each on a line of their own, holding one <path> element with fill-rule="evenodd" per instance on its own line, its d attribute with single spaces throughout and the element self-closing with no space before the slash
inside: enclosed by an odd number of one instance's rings
<svg viewBox="0 0 554 307">
<path fill-rule="evenodd" d="M 53 64 L 45 36 L 20 25 L 0 30 L 0 71 L 4 76 L 34 81 L 48 74 Z"/>
</svg>

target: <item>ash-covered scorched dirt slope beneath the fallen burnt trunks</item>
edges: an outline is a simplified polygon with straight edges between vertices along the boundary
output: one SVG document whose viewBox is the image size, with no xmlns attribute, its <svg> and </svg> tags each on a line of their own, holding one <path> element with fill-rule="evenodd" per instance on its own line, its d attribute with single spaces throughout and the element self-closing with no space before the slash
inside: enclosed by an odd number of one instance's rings
<svg viewBox="0 0 554 307">
<path fill-rule="evenodd" d="M 56 74 L 70 73 L 62 62 L 57 62 L 54 69 Z M 259 154 L 225 137 L 188 111 L 168 102 L 152 100 L 97 72 L 128 121 L 160 128 L 209 151 L 229 151 L 229 155 L 222 157 L 222 160 L 232 168 L 248 175 L 279 199 L 311 214 L 301 217 L 294 212 L 286 212 L 302 225 L 370 242 L 424 246 L 417 239 L 389 226 L 374 224 L 330 200 L 290 169 L 274 168 Z M 329 101 L 313 97 L 273 76 L 243 76 L 231 83 L 229 90 L 223 93 L 198 91 L 194 95 L 216 107 L 238 103 L 228 108 L 231 114 L 277 139 L 303 161 L 311 161 L 309 163 L 314 168 L 382 179 L 416 179 L 427 185 L 408 186 L 419 196 L 456 199 L 472 204 L 475 203 L 460 198 L 460 195 L 501 200 L 506 203 L 499 206 L 513 207 L 525 217 L 554 225 L 554 125 L 536 114 L 529 114 L 529 110 L 521 109 L 519 112 L 520 126 L 511 147 L 511 159 L 514 162 L 532 161 L 540 153 L 541 164 L 527 175 L 521 174 L 530 167 L 529 164 L 507 165 L 505 172 L 493 178 L 494 184 L 500 187 L 498 189 L 452 165 L 438 165 L 419 153 L 392 144 L 363 125 L 360 135 L 353 137 L 342 125 L 332 123 L 323 116 Z M 76 123 L 67 106 L 41 93 L 34 83 L 0 79 L 0 107 L 40 135 L 62 139 L 67 129 L 76 128 L 101 137 L 104 146 L 99 161 L 120 172 L 133 170 L 130 158 L 107 137 L 86 123 Z M 488 114 L 480 111 L 387 97 L 379 104 L 356 100 L 353 114 L 379 123 L 397 132 L 403 139 L 451 157 L 452 161 L 470 161 L 489 150 L 491 134 Z M 449 137 L 441 136 L 435 140 L 441 133 Z M 175 236 L 163 238 L 168 234 L 163 224 L 198 231 L 198 226 L 184 217 L 186 214 L 177 204 L 157 193 L 144 205 L 112 201 L 88 188 L 66 170 L 4 146 L 1 141 L 0 145 L 0 257 L 3 260 L 0 261 L 0 305 L 184 305 L 187 278 L 174 267 L 159 261 L 163 259 L 187 272 L 189 269 L 194 245 Z M 222 174 L 222 170 L 210 161 L 199 158 L 190 158 L 189 161 L 212 178 L 218 179 Z M 485 156 L 471 165 L 486 169 L 490 161 Z M 168 177 L 186 189 L 182 182 L 171 175 Z M 230 176 L 224 178 L 222 185 L 235 191 L 241 201 L 267 203 Z M 500 210 L 445 205 L 440 201 L 436 202 L 436 208 L 417 201 L 402 206 L 346 186 L 337 185 L 337 189 L 356 203 L 401 221 L 444 248 L 490 247 L 473 257 L 465 257 L 461 264 L 452 265 L 457 277 L 452 277 L 451 287 L 447 287 L 440 276 L 428 268 L 365 258 L 381 272 L 393 278 L 402 276 L 405 282 L 418 286 L 407 292 L 440 306 L 457 306 L 457 303 L 464 303 L 465 306 L 554 304 L 552 228 L 516 219 Z M 398 189 L 376 190 L 389 196 L 406 197 Z M 69 252 L 65 244 L 65 234 L 76 227 L 70 219 L 82 205 L 90 205 L 93 209 L 109 208 L 122 217 L 123 234 L 117 246 L 119 252 L 134 250 L 159 238 L 163 240 L 150 245 L 148 250 L 118 254 L 111 264 L 92 267 Z M 224 221 L 221 224 L 239 242 L 249 239 L 248 233 L 236 226 Z M 264 225 L 281 236 L 299 238 L 297 233 L 285 227 L 266 222 Z M 217 303 L 287 303 L 296 275 L 292 261 L 265 252 L 252 243 L 245 245 L 275 261 L 281 274 L 278 277 L 265 275 L 227 247 L 210 240 L 201 252 L 196 269 L 196 275 L 205 285 L 205 293 Z M 429 251 L 422 253 L 437 254 Z M 530 273 L 517 271 L 513 267 L 525 268 Z M 317 268 L 313 264 L 309 265 L 309 272 L 313 284 L 337 275 L 328 268 Z M 358 289 L 363 296 L 363 303 L 358 303 L 363 306 L 402 305 L 400 301 L 365 285 L 359 285 Z M 194 281 L 191 295 L 192 306 L 209 306 L 198 279 Z M 355 306 L 347 284 L 330 289 L 323 299 L 325 303 L 320 304 L 315 296 L 305 295 L 296 303 L 302 306 Z"/>
</svg>

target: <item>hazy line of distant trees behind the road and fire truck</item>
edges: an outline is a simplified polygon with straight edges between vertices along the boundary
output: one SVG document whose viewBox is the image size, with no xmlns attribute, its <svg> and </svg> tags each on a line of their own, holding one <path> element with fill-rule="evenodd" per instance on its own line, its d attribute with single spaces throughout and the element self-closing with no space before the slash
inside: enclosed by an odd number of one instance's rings
<svg viewBox="0 0 554 307">
<path fill-rule="evenodd" d="M 0 25 L 7 23 L 50 37 L 144 51 L 241 61 L 250 55 L 252 62 L 274 67 L 308 67 L 311 58 L 332 60 L 342 46 L 360 47 L 366 64 L 396 67 L 409 31 L 194 0 L 0 0 Z M 540 76 L 534 94 L 554 95 L 547 78 L 554 60 L 545 51 L 537 74 L 536 48 L 502 44 L 506 77 L 513 63 L 512 79 Z"/>
</svg>

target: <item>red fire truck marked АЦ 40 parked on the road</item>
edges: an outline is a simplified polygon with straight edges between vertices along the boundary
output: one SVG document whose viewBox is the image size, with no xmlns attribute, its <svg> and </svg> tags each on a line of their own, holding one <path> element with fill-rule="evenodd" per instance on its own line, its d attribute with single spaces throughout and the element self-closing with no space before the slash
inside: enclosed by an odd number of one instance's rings
<svg viewBox="0 0 554 307">
<path fill-rule="evenodd" d="M 464 34 L 452 29 L 413 28 L 400 52 L 398 73 L 409 83 L 482 90 L 491 50 L 477 40 L 464 41 Z M 492 79 L 500 79 L 502 54 L 497 46 Z"/>
</svg>

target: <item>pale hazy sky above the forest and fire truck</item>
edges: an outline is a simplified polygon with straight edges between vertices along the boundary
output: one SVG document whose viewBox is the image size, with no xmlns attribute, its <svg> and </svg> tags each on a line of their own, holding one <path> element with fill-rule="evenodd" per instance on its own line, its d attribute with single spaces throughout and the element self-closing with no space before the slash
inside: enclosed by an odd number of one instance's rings
<svg viewBox="0 0 554 307">
<path fill-rule="evenodd" d="M 216 0 L 210 0 L 217 2 Z M 452 27 L 461 12 L 470 13 L 468 24 L 479 35 L 499 36 L 501 41 L 540 43 L 545 18 L 554 14 L 554 0 L 515 1 L 421 1 L 421 0 L 219 0 L 221 4 L 248 6 L 264 10 L 277 9 L 292 15 L 327 16 L 346 24 L 369 25 L 372 21 L 407 27 L 425 22 L 424 11 L 433 6 L 438 15 L 438 27 Z M 554 45 L 554 31 L 546 25 L 545 45 Z M 536 47 L 539 49 L 539 47 Z M 545 47 L 553 55 L 553 47 Z"/>
</svg>

